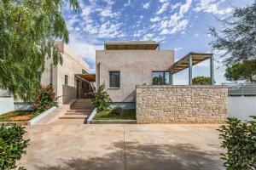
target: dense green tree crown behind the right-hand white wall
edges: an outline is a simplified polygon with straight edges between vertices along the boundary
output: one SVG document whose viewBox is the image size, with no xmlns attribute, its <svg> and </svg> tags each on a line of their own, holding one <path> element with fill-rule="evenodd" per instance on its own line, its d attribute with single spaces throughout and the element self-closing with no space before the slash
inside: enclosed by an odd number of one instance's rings
<svg viewBox="0 0 256 170">
<path fill-rule="evenodd" d="M 226 69 L 224 76 L 229 81 L 256 82 L 256 59 L 236 62 Z"/>
</svg>

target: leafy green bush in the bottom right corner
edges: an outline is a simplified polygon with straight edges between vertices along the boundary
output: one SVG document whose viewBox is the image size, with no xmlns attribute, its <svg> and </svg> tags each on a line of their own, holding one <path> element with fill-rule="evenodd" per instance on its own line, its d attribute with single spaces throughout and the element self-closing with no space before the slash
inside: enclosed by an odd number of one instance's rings
<svg viewBox="0 0 256 170">
<path fill-rule="evenodd" d="M 226 153 L 221 154 L 227 169 L 251 170 L 256 167 L 256 116 L 251 122 L 229 118 L 228 125 L 222 126 L 220 139 Z"/>
</svg>

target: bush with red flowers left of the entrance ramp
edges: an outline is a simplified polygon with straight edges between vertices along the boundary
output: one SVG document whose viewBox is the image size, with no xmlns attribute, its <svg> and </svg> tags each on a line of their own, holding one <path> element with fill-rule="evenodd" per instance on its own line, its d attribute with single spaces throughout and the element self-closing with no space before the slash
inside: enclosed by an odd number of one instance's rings
<svg viewBox="0 0 256 170">
<path fill-rule="evenodd" d="M 55 97 L 54 89 L 49 86 L 41 86 L 32 93 L 33 108 L 43 112 L 53 106 L 58 105 L 58 98 Z"/>
</svg>

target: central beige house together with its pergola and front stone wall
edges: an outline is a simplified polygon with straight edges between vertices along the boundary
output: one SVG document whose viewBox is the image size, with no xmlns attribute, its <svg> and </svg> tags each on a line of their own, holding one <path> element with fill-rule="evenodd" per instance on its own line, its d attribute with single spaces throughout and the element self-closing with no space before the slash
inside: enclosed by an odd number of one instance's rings
<svg viewBox="0 0 256 170">
<path fill-rule="evenodd" d="M 210 61 L 212 85 L 192 85 L 192 66 Z M 189 69 L 189 85 L 172 85 Z M 214 85 L 213 54 L 193 53 L 174 62 L 160 43 L 105 42 L 96 50 L 96 89 L 105 84 L 115 105 L 136 108 L 138 123 L 220 123 L 227 116 L 227 87 Z"/>
</svg>

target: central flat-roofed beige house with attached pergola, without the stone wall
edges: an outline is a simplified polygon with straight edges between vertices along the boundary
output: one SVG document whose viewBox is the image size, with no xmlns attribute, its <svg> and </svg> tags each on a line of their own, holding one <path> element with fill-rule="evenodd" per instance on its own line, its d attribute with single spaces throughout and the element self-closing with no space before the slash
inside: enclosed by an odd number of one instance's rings
<svg viewBox="0 0 256 170">
<path fill-rule="evenodd" d="M 173 74 L 189 67 L 190 55 L 193 65 L 212 58 L 190 53 L 174 64 L 174 50 L 160 50 L 158 42 L 105 42 L 104 50 L 96 50 L 96 88 L 105 83 L 113 102 L 135 102 L 137 85 L 172 85 Z"/>
</svg>

